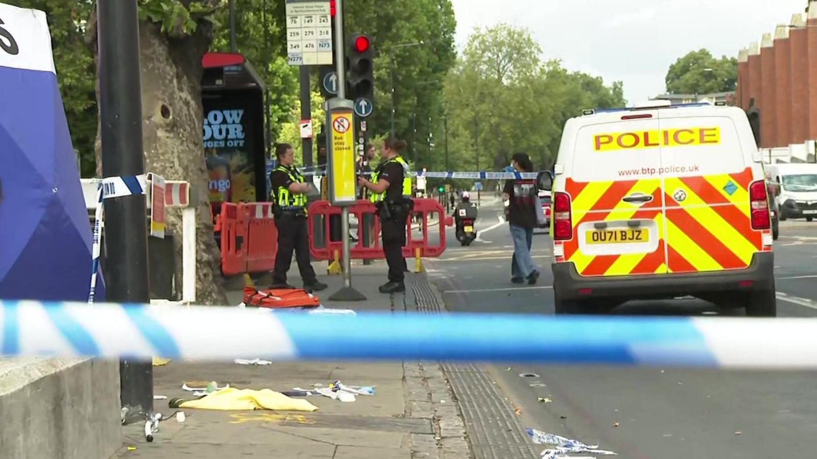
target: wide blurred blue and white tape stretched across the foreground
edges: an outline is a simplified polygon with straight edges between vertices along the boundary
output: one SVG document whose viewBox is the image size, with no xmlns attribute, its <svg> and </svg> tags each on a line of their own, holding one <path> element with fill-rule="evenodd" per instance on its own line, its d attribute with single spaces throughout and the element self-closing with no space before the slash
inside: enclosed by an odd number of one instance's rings
<svg viewBox="0 0 817 459">
<path fill-rule="evenodd" d="M 347 316 L 0 301 L 0 351 L 5 356 L 434 359 L 815 369 L 815 349 L 815 319 Z"/>
</svg>

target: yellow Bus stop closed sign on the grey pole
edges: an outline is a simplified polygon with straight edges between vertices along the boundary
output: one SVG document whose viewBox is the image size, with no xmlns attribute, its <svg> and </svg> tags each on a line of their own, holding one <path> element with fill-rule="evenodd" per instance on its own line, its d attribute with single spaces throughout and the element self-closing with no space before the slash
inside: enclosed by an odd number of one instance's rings
<svg viewBox="0 0 817 459">
<path fill-rule="evenodd" d="M 329 177 L 329 200 L 332 204 L 354 203 L 355 188 L 355 130 L 352 128 L 352 110 L 335 109 L 330 117 L 332 151 Z"/>
</svg>

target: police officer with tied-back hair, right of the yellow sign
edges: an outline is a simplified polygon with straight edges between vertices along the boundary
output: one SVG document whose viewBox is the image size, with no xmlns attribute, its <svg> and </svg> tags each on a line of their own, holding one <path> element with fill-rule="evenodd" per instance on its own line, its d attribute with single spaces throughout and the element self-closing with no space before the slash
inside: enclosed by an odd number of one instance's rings
<svg viewBox="0 0 817 459">
<path fill-rule="evenodd" d="M 411 176 L 408 163 L 400 156 L 405 140 L 389 137 L 383 142 L 381 163 L 372 174 L 372 180 L 359 177 L 358 183 L 372 191 L 371 202 L 377 205 L 382 227 L 383 252 L 389 265 L 389 282 L 380 287 L 381 293 L 405 292 L 406 261 L 403 246 L 406 243 L 406 221 L 413 208 Z"/>
</svg>

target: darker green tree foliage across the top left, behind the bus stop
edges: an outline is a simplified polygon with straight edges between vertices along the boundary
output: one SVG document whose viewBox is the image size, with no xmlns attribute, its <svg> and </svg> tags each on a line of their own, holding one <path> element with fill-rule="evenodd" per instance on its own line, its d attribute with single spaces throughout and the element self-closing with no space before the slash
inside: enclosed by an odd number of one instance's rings
<svg viewBox="0 0 817 459">
<path fill-rule="evenodd" d="M 53 38 L 57 74 L 65 101 L 74 148 L 83 162 L 83 176 L 96 170 L 96 69 L 92 52 L 83 41 L 93 0 L 5 0 L 20 7 L 46 11 Z M 170 38 L 194 33 L 201 20 L 214 25 L 213 51 L 229 51 L 226 0 L 138 0 L 141 20 L 161 25 Z M 267 120 L 273 140 L 292 140 L 300 119 L 298 69 L 288 65 L 284 0 L 235 0 L 236 42 L 269 90 Z M 395 81 L 395 131 L 409 141 L 409 156 L 428 163 L 440 156 L 441 142 L 432 149 L 432 138 L 442 137 L 445 75 L 456 59 L 456 29 L 450 0 L 391 0 L 388 7 L 369 0 L 346 0 L 346 34 L 369 33 L 375 57 L 375 111 L 368 131 L 380 139 L 391 129 L 391 72 Z M 422 41 L 421 46 L 398 47 Z M 313 89 L 318 88 L 317 71 Z M 323 118 L 322 100 L 312 103 L 315 132 Z M 294 145 L 299 145 L 295 142 Z M 440 160 L 441 161 L 441 160 Z M 438 164 L 442 164 L 438 162 Z"/>
</svg>

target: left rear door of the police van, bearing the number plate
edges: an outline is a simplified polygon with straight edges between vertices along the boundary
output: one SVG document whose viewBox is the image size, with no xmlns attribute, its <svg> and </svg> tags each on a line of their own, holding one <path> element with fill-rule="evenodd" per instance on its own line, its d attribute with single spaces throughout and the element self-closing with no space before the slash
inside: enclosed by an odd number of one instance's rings
<svg viewBox="0 0 817 459">
<path fill-rule="evenodd" d="M 658 131 L 656 110 L 609 114 L 578 128 L 565 182 L 574 231 L 564 247 L 579 274 L 667 272 Z"/>
</svg>

